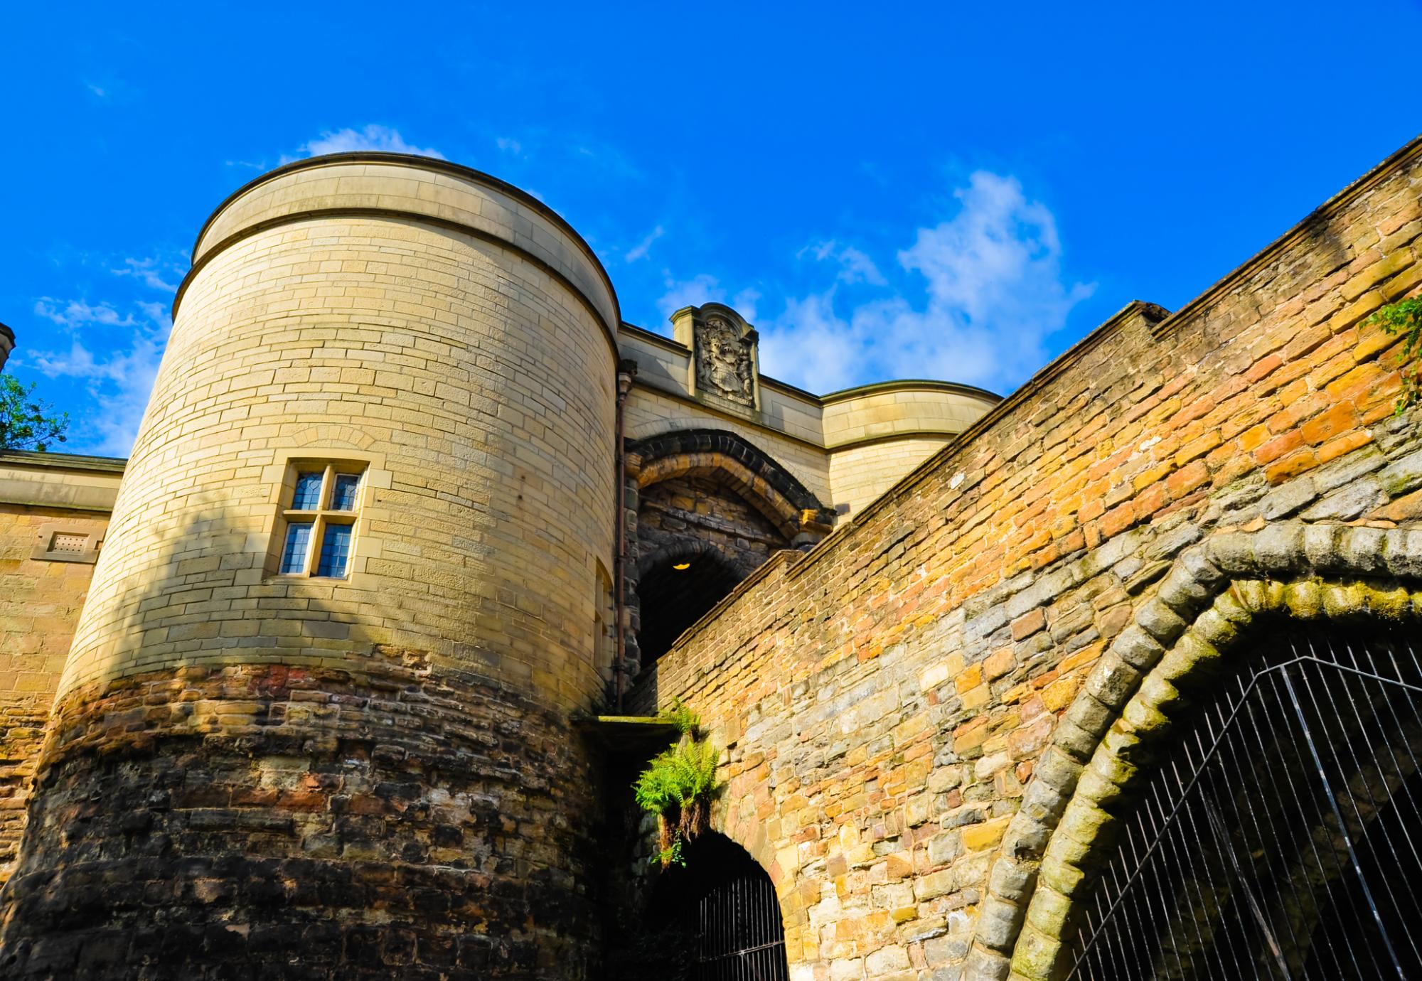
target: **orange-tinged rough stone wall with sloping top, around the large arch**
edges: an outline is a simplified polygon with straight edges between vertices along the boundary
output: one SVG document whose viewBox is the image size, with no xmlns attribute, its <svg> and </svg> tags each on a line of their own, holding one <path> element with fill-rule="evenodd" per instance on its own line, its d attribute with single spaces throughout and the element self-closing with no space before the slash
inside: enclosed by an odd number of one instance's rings
<svg viewBox="0 0 1422 981">
<path fill-rule="evenodd" d="M 1169 634 L 1193 545 L 1277 529 L 1240 563 L 1422 569 L 1422 536 L 1374 530 L 1422 525 L 1422 411 L 1394 415 L 1396 345 L 1361 324 L 1422 282 L 1419 152 L 1166 321 L 1123 311 L 661 658 L 638 704 L 680 697 L 728 748 L 717 825 L 771 872 L 795 978 L 1007 975 L 1049 827 L 1004 835 L 1024 795 L 1059 813 L 1062 714 L 1111 721 L 1140 675 L 1103 651 Z M 1276 549 L 1307 526 L 1313 564 Z"/>
</svg>

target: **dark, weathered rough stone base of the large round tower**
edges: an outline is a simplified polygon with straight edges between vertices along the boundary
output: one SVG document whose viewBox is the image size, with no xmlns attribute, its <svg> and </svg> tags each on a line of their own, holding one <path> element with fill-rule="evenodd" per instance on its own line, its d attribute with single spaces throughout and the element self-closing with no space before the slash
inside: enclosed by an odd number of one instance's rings
<svg viewBox="0 0 1422 981">
<path fill-rule="evenodd" d="M 383 660 L 71 692 L 0 977 L 589 977 L 580 739 L 505 688 Z"/>
</svg>

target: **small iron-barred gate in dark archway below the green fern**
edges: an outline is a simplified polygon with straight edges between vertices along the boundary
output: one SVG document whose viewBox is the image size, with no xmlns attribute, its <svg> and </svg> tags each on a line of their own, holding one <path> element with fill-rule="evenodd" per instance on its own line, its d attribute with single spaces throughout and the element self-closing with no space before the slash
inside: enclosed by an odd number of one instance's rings
<svg viewBox="0 0 1422 981">
<path fill-rule="evenodd" d="M 775 886 L 759 866 L 717 881 L 697 903 L 695 981 L 788 981 Z"/>
</svg>

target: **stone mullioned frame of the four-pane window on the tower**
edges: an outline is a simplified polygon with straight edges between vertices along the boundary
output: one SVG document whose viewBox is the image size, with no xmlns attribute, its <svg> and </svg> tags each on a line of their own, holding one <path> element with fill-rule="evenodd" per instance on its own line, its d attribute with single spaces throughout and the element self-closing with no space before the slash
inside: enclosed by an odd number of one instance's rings
<svg viewBox="0 0 1422 981">
<path fill-rule="evenodd" d="M 321 490 L 317 508 L 293 508 L 297 481 L 303 473 L 314 471 L 321 472 Z M 272 540 L 267 547 L 266 573 L 269 577 L 280 580 L 316 580 L 321 583 L 348 583 L 351 580 L 356 573 L 357 545 L 363 532 L 361 523 L 371 492 L 371 471 L 370 461 L 354 458 L 292 456 L 286 461 L 277 498 L 277 518 L 273 523 Z M 356 488 L 354 508 L 350 510 L 331 508 L 336 478 L 353 475 L 360 478 Z M 287 532 L 294 523 L 310 523 L 311 535 L 307 540 L 301 570 L 283 572 L 282 556 L 286 549 Z M 327 529 L 331 526 L 348 526 L 351 529 L 346 570 L 340 576 L 323 576 L 319 572 L 321 546 L 326 540 Z"/>
</svg>

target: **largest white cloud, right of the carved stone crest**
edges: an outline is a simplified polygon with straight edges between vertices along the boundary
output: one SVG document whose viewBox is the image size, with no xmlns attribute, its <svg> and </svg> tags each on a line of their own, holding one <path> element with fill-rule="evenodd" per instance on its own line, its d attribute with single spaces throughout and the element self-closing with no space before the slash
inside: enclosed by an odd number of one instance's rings
<svg viewBox="0 0 1422 981">
<path fill-rule="evenodd" d="M 978 171 L 954 196 L 957 213 L 897 253 L 920 301 L 893 294 L 842 309 L 838 284 L 792 299 L 762 324 L 766 374 L 815 391 L 924 377 L 1012 388 L 1038 368 L 1047 337 L 1095 286 L 1064 280 L 1057 222 L 1015 178 Z M 813 256 L 839 262 L 838 280 L 875 284 L 867 254 L 825 246 Z"/>
</svg>

